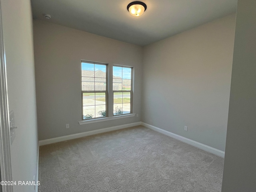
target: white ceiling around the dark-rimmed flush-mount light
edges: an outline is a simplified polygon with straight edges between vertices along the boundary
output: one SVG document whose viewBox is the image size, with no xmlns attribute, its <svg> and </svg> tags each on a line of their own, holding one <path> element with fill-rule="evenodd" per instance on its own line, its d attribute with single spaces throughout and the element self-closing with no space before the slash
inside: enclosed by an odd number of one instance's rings
<svg viewBox="0 0 256 192">
<path fill-rule="evenodd" d="M 139 17 L 127 11 L 133 0 L 31 0 L 34 19 L 47 20 L 137 45 L 173 36 L 236 12 L 237 0 L 142 0 Z"/>
</svg>

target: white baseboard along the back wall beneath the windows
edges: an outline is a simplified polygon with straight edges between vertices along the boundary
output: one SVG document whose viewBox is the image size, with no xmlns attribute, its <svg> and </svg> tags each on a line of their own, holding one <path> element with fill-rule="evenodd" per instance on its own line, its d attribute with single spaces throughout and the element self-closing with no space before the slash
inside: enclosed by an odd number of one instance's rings
<svg viewBox="0 0 256 192">
<path fill-rule="evenodd" d="M 114 131 L 114 130 L 118 130 L 118 129 L 124 129 L 124 128 L 138 126 L 138 125 L 141 125 L 141 122 L 124 124 L 124 125 L 119 125 L 119 126 L 114 126 L 114 127 L 103 128 L 103 129 L 97 129 L 97 130 L 93 130 L 93 131 L 87 131 L 87 132 L 62 136 L 62 137 L 46 139 L 46 140 L 40 140 L 39 146 L 52 144 L 52 143 L 56 143 L 56 142 L 61 142 L 61 141 L 66 141 L 66 140 L 70 140 L 70 139 L 76 139 L 76 138 L 85 137 L 85 136 L 89 136 L 89 135 L 95 135 L 95 134 L 99 134 L 99 133 Z"/>
</svg>

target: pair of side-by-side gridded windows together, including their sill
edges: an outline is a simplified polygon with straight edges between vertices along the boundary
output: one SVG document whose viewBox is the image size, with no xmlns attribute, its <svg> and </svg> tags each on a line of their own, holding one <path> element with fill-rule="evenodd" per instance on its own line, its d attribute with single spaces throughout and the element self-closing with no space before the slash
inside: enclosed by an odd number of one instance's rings
<svg viewBox="0 0 256 192">
<path fill-rule="evenodd" d="M 102 121 L 135 115 L 131 114 L 133 68 L 120 65 L 110 66 L 108 68 L 108 64 L 105 63 L 81 61 L 82 120 L 108 117 L 97 120 Z M 113 72 L 112 79 L 108 79 L 108 70 Z M 110 86 L 108 90 L 109 83 L 113 83 L 113 89 Z M 111 98 L 109 100 L 108 95 Z M 108 107 L 109 105 L 113 106 L 112 112 L 110 112 L 112 107 Z M 125 114 L 129 115 L 118 116 Z"/>
</svg>

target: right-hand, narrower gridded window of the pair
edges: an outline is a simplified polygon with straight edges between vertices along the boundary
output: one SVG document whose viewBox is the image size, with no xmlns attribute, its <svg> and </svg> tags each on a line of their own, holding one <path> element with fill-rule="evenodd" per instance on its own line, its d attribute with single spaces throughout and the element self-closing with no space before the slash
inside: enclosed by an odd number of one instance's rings
<svg viewBox="0 0 256 192">
<path fill-rule="evenodd" d="M 113 66 L 113 115 L 131 113 L 132 68 Z"/>
</svg>

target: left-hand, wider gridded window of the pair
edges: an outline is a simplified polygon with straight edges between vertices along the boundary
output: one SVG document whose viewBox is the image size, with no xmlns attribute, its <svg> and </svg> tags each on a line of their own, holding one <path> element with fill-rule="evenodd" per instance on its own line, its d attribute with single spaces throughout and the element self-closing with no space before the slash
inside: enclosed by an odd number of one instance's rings
<svg viewBox="0 0 256 192">
<path fill-rule="evenodd" d="M 107 116 L 107 64 L 82 61 L 82 120 Z"/>
</svg>

